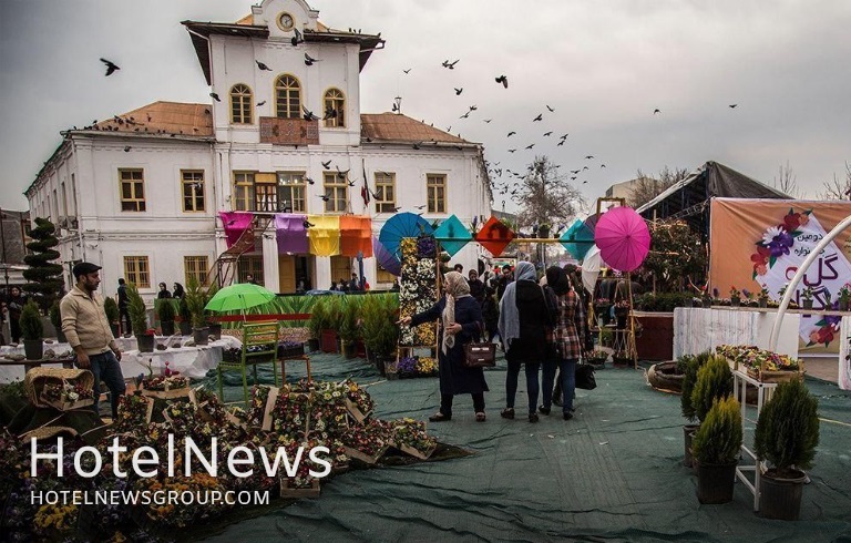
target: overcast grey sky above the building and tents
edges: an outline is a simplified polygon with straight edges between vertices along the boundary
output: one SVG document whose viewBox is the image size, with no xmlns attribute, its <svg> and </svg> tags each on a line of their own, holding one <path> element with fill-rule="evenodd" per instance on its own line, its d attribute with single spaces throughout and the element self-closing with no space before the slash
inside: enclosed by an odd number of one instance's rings
<svg viewBox="0 0 851 543">
<path fill-rule="evenodd" d="M 180 21 L 234 22 L 252 6 L 0 3 L 0 206 L 13 209 L 27 208 L 21 193 L 61 143 L 61 130 L 156 100 L 208 102 Z M 404 114 L 484 144 L 500 167 L 522 171 L 541 154 L 563 171 L 587 164 L 576 183 L 589 199 L 639 168 L 694 170 L 710 160 L 769 185 L 788 162 L 801 195 L 814 197 L 834 174 L 844 178 L 851 162 L 848 1 L 309 3 L 332 28 L 387 40 L 361 73 L 361 112 L 390 111 L 400 95 Z M 100 57 L 121 71 L 104 78 Z M 440 65 L 455 59 L 454 70 Z M 494 82 L 501 74 L 509 89 Z M 470 105 L 478 110 L 459 119 Z M 517 134 L 506 137 L 510 131 Z M 501 208 L 502 197 L 493 205 Z"/>
</svg>

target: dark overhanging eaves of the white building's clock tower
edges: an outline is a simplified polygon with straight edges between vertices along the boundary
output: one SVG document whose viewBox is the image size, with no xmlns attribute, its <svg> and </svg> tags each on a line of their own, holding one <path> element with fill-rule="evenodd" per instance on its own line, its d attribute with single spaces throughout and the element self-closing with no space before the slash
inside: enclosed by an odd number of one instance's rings
<svg viewBox="0 0 851 543">
<path fill-rule="evenodd" d="M 236 23 L 221 22 L 201 22 L 201 21 L 181 21 L 181 24 L 189 31 L 192 44 L 195 47 L 195 54 L 198 55 L 201 69 L 207 84 L 213 84 L 209 65 L 209 48 L 207 40 L 213 34 L 218 35 L 238 35 L 242 38 L 268 39 L 269 29 L 266 25 L 253 24 L 252 14 L 236 21 Z M 379 33 L 380 34 L 380 33 Z M 367 64 L 372 51 L 383 49 L 385 40 L 379 34 L 362 34 L 360 32 L 347 32 L 344 30 L 334 30 L 317 21 L 317 30 L 305 29 L 301 33 L 306 43 L 357 43 L 360 45 L 360 69 Z"/>
</svg>

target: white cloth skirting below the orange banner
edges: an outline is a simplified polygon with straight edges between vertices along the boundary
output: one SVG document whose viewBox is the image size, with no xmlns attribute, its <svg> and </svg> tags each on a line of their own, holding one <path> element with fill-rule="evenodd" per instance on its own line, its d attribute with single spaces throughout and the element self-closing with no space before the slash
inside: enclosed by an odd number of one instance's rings
<svg viewBox="0 0 851 543">
<path fill-rule="evenodd" d="M 719 345 L 756 345 L 768 349 L 777 310 L 674 309 L 674 358 L 715 350 Z M 798 358 L 798 328 L 801 316 L 786 314 L 780 325 L 777 352 Z"/>
</svg>

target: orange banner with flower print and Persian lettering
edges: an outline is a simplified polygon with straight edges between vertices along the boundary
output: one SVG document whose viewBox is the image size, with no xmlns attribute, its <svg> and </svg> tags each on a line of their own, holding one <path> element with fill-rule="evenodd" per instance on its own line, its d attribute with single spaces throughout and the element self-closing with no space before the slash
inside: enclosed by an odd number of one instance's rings
<svg viewBox="0 0 851 543">
<path fill-rule="evenodd" d="M 851 215 L 851 202 L 712 198 L 709 225 L 709 290 L 729 298 L 730 289 L 769 291 L 775 300 L 816 244 Z M 801 305 L 811 290 L 814 309 L 835 304 L 851 285 L 851 232 L 822 250 L 798 285 Z M 839 352 L 839 317 L 801 319 L 800 347 L 807 354 Z"/>
</svg>

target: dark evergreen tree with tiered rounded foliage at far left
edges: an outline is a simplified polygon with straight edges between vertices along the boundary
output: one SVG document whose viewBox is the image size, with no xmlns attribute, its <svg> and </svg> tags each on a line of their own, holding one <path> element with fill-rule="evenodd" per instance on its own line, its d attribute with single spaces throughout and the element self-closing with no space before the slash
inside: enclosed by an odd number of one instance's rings
<svg viewBox="0 0 851 543">
<path fill-rule="evenodd" d="M 23 257 L 23 263 L 30 267 L 23 270 L 23 277 L 29 281 L 24 289 L 43 296 L 39 299 L 42 309 L 49 308 L 64 290 L 62 266 L 54 263 L 60 256 L 53 248 L 59 245 L 57 236 L 53 235 L 55 232 L 53 223 L 37 217 L 35 227 L 30 230 L 32 242 L 27 244 L 32 254 Z"/>
</svg>

